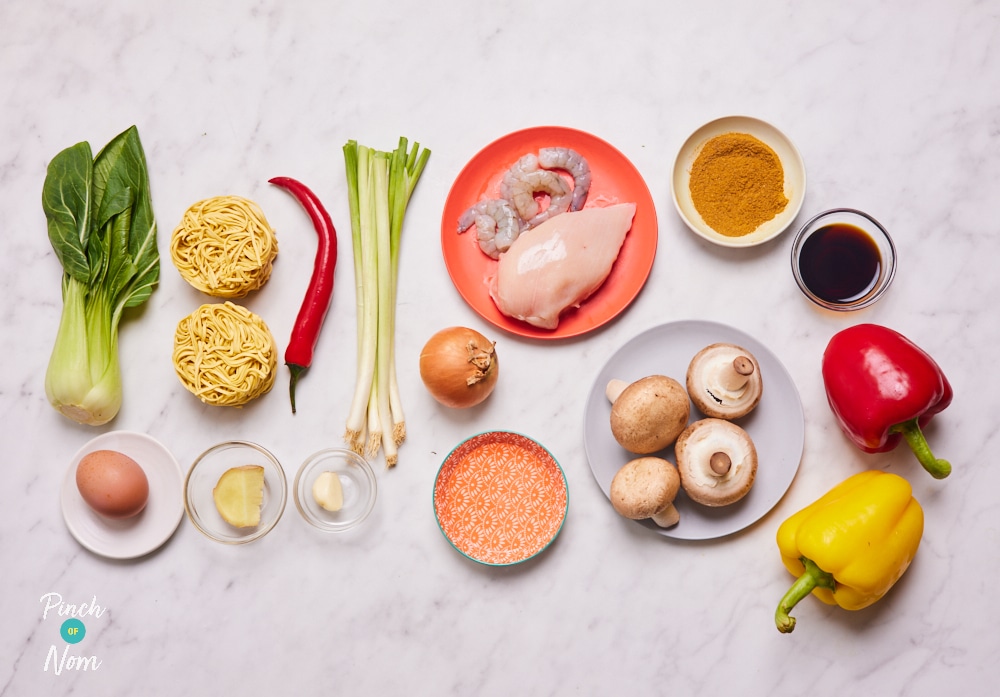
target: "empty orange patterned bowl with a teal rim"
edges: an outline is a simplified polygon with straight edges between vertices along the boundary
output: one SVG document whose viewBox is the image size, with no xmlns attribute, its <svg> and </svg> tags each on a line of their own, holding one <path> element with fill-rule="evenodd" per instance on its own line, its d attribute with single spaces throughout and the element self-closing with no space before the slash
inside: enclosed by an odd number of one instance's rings
<svg viewBox="0 0 1000 697">
<path fill-rule="evenodd" d="M 463 555 L 489 566 L 519 564 L 544 551 L 568 508 L 559 463 L 536 441 L 508 431 L 459 444 L 434 482 L 441 532 Z"/>
</svg>

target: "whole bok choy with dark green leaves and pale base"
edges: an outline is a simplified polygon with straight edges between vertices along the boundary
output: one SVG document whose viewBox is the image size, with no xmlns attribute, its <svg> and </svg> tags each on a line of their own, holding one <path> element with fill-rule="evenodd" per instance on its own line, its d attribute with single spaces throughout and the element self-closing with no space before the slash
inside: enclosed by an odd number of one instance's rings
<svg viewBox="0 0 1000 697">
<path fill-rule="evenodd" d="M 63 310 L 45 394 L 60 413 L 98 426 L 121 408 L 122 315 L 149 298 L 160 272 L 146 156 L 135 126 L 97 157 L 87 142 L 56 155 L 42 208 L 63 267 Z"/>
</svg>

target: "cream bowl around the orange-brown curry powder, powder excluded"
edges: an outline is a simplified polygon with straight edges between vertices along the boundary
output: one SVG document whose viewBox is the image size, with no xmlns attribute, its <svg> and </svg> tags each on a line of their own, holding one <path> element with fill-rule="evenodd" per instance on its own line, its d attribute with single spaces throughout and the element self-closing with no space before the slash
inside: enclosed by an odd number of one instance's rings
<svg viewBox="0 0 1000 697">
<path fill-rule="evenodd" d="M 691 166 L 705 143 L 725 133 L 746 133 L 764 142 L 778 155 L 785 171 L 788 204 L 784 210 L 753 232 L 740 237 L 723 235 L 709 227 L 691 200 Z M 771 124 L 751 116 L 726 116 L 710 121 L 684 141 L 674 160 L 671 188 L 677 213 L 693 232 L 723 247 L 753 247 L 774 239 L 791 226 L 805 198 L 806 169 L 802 155 L 792 141 Z"/>
</svg>

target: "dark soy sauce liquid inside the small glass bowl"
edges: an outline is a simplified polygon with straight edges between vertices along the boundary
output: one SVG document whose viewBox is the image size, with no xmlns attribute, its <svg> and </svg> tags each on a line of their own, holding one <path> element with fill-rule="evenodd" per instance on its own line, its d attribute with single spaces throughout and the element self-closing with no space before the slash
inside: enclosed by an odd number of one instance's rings
<svg viewBox="0 0 1000 697">
<path fill-rule="evenodd" d="M 799 253 L 799 273 L 813 294 L 830 303 L 864 297 L 878 282 L 882 255 L 859 227 L 833 223 L 814 232 Z"/>
</svg>

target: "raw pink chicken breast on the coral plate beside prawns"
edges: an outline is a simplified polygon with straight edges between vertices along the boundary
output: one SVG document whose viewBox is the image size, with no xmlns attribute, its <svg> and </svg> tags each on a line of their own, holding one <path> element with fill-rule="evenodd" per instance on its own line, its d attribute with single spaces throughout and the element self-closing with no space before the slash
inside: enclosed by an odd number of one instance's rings
<svg viewBox="0 0 1000 697">
<path fill-rule="evenodd" d="M 563 310 L 579 307 L 611 273 L 634 215 L 634 203 L 584 208 L 521 233 L 490 285 L 500 312 L 555 329 Z"/>
</svg>

